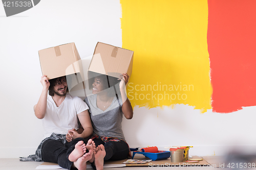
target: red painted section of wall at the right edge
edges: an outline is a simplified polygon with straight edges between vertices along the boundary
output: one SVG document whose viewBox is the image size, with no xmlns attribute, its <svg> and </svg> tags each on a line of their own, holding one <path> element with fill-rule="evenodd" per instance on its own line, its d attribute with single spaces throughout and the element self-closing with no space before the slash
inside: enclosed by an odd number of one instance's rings
<svg viewBox="0 0 256 170">
<path fill-rule="evenodd" d="M 256 1 L 208 0 L 212 110 L 256 105 Z"/>
</svg>

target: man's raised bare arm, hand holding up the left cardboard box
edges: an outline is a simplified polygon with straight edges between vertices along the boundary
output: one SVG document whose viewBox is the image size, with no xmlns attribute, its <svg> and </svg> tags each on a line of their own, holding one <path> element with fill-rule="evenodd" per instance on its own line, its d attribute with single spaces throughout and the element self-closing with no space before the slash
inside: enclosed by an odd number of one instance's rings
<svg viewBox="0 0 256 170">
<path fill-rule="evenodd" d="M 49 90 L 50 82 L 46 75 L 41 77 L 41 84 L 42 84 L 42 93 L 38 100 L 38 103 L 34 106 L 35 116 L 39 119 L 45 117 L 46 114 L 46 106 L 47 106 L 47 93 Z"/>
</svg>

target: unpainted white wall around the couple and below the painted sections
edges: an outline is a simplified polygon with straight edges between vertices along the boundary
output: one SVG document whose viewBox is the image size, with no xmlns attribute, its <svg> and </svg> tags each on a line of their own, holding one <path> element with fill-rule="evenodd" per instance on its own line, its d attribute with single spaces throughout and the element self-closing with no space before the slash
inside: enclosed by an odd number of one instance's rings
<svg viewBox="0 0 256 170">
<path fill-rule="evenodd" d="M 120 18 L 119 1 L 44 0 L 11 17 L 0 5 L 0 158 L 34 154 L 42 139 L 41 120 L 33 112 L 42 89 L 38 50 L 75 42 L 86 58 L 98 41 L 121 47 Z M 123 131 L 131 148 L 193 145 L 190 155 L 221 155 L 226 145 L 254 145 L 255 111 L 200 114 L 185 105 L 135 107 Z"/>
</svg>

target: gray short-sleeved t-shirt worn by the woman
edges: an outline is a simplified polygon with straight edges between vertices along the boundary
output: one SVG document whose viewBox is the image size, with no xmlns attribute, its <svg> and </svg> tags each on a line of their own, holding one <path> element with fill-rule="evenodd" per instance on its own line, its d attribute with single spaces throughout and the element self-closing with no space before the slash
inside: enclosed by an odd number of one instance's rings
<svg viewBox="0 0 256 170">
<path fill-rule="evenodd" d="M 124 139 L 122 131 L 123 112 L 121 109 L 122 99 L 114 97 L 111 105 L 105 111 L 97 107 L 97 94 L 93 94 L 84 99 L 89 106 L 91 114 L 93 135 L 109 136 Z"/>
</svg>

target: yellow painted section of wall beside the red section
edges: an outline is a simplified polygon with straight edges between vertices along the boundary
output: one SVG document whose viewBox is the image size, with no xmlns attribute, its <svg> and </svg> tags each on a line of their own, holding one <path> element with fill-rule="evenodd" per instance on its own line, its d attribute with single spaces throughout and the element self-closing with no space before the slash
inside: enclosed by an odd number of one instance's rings
<svg viewBox="0 0 256 170">
<path fill-rule="evenodd" d="M 120 1 L 122 47 L 134 51 L 132 106 L 211 109 L 207 1 Z"/>
</svg>

